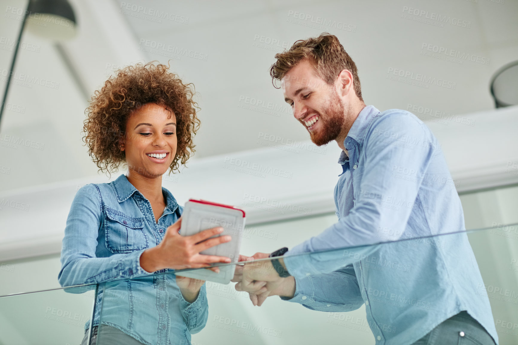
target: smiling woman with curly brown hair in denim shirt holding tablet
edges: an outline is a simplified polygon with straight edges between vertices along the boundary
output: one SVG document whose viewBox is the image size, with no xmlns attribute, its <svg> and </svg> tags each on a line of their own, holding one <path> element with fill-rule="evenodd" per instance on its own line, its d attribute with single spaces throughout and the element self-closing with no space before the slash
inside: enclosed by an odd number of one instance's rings
<svg viewBox="0 0 518 345">
<path fill-rule="evenodd" d="M 60 284 L 104 283 L 92 344 L 97 337 L 110 345 L 190 344 L 207 321 L 204 281 L 160 273 L 230 262 L 199 254 L 231 239 L 210 238 L 221 227 L 180 236 L 183 208 L 162 187 L 162 175 L 194 152 L 199 127 L 191 84 L 168 68 L 148 63 L 119 70 L 85 111 L 83 139 L 99 170 L 128 167 L 110 183 L 83 186 L 66 222 Z M 88 343 L 89 324 L 82 344 Z"/>
</svg>

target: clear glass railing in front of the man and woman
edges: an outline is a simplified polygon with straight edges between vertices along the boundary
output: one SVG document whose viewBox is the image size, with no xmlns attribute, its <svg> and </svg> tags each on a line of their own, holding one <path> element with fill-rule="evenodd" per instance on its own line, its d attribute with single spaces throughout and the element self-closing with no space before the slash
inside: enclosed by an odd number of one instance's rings
<svg viewBox="0 0 518 345">
<path fill-rule="evenodd" d="M 0 344 L 87 344 L 90 331 L 98 345 L 411 344 L 463 310 L 471 317 L 461 313 L 466 324 L 452 337 L 518 343 L 518 225 L 378 235 L 381 243 L 282 257 L 294 277 L 280 278 L 271 258 L 241 262 L 238 290 L 206 281 L 192 295 L 200 282 L 171 271 L 4 296 Z"/>
</svg>

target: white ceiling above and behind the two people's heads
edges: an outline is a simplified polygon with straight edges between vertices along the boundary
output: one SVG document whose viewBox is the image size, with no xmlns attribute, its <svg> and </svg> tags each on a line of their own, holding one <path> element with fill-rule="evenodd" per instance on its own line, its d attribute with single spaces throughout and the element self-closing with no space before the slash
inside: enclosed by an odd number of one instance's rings
<svg viewBox="0 0 518 345">
<path fill-rule="evenodd" d="M 22 38 L 40 49 L 39 52 L 20 50 L 17 73 L 59 82 L 60 87 L 11 85 L 8 103 L 24 107 L 24 112 L 4 112 L 0 144 L 7 143 L 8 135 L 45 146 L 42 150 L 20 145 L 16 149 L 0 146 L 0 190 L 96 174 L 97 169 L 81 141 L 87 106 L 87 95 L 81 89 L 91 94 L 113 71 L 112 66 L 169 60 L 141 50 L 142 39 L 207 55 L 207 61 L 188 56 L 171 60 L 171 69 L 185 82 L 193 82 L 199 93 L 202 128 L 196 136 L 194 159 L 264 148 L 257 140 L 260 133 L 292 140 L 308 139 L 306 130 L 287 110 L 272 116 L 243 108 L 247 105 L 246 97 L 284 106 L 281 91 L 272 87 L 268 75 L 268 68 L 275 61 L 276 51 L 272 49 L 276 47 L 255 47 L 257 36 L 278 40 L 282 49 L 283 44 L 291 46 L 297 39 L 322 31 L 337 35 L 358 66 L 365 102 L 380 110 L 407 109 L 409 104 L 449 114 L 491 109 L 494 107 L 488 91 L 491 76 L 502 65 L 518 59 L 518 2 L 515 0 L 503 4 L 488 0 L 131 2 L 147 7 L 148 11 L 153 8 L 173 13 L 180 17 L 179 21 L 189 18 L 187 24 L 135 18 L 138 11 L 123 13 L 122 2 L 118 1 L 70 2 L 78 18 L 78 36 L 64 42 L 63 50 L 74 73 L 70 73 L 52 42 L 28 32 Z M 24 8 L 25 3 L 2 0 L 0 9 L 5 14 L 8 6 Z M 428 11 L 428 16 L 435 12 L 470 22 L 470 28 L 451 24 L 439 27 L 403 18 L 407 7 Z M 322 17 L 326 21 L 347 23 L 355 26 L 355 32 L 301 25 L 309 20 L 296 19 L 297 22 L 292 23 L 289 20 L 293 19 L 294 12 L 313 16 L 313 20 Z M 413 19 L 424 18 L 406 15 Z M 13 41 L 19 25 L 16 18 L 2 18 L 0 36 Z M 423 44 L 478 55 L 490 59 L 490 63 L 463 61 L 458 64 L 424 56 L 421 54 Z M 12 52 L 5 49 L 8 44 L 0 41 L 0 46 L 0 68 L 5 71 Z M 456 88 L 429 85 L 425 89 L 389 80 L 386 77 L 390 68 L 445 79 L 456 83 Z M 448 121 L 444 125 L 448 125 Z M 6 169 L 10 174 L 2 173 Z"/>
</svg>

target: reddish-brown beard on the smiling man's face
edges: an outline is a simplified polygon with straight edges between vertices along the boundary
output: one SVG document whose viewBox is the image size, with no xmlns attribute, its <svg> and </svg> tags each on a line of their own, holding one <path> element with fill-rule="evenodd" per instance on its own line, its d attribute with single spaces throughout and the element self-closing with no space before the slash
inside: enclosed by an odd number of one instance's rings
<svg viewBox="0 0 518 345">
<path fill-rule="evenodd" d="M 344 121 L 344 107 L 342 100 L 338 97 L 336 90 L 333 90 L 327 107 L 325 109 L 325 117 L 320 114 L 320 128 L 318 133 L 309 132 L 311 141 L 316 146 L 326 145 L 326 143 L 335 140 L 342 131 Z"/>
</svg>

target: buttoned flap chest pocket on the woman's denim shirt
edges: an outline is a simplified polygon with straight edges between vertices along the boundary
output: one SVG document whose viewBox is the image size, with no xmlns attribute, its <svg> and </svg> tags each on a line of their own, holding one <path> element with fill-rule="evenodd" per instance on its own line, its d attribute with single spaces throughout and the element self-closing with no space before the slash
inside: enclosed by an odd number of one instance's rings
<svg viewBox="0 0 518 345">
<path fill-rule="evenodd" d="M 113 253 L 131 253 L 148 248 L 144 218 L 128 217 L 121 211 L 105 208 L 106 248 Z"/>
</svg>

